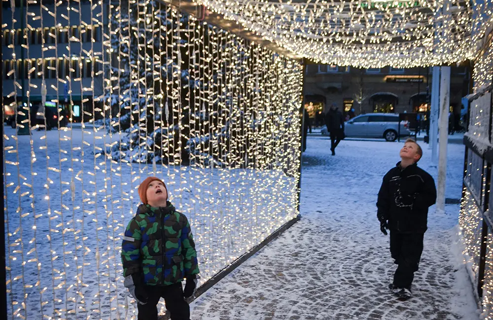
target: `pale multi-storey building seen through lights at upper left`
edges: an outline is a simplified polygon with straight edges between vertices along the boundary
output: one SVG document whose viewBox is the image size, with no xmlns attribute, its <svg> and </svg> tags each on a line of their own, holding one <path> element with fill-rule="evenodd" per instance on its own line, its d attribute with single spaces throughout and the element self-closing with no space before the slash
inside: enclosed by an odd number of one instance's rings
<svg viewBox="0 0 493 320">
<path fill-rule="evenodd" d="M 72 122 L 88 121 L 84 111 L 92 114 L 101 105 L 104 88 L 105 24 L 92 18 L 107 19 L 106 2 L 63 2 L 55 9 L 53 2 L 43 1 L 44 9 L 39 3 L 22 8 L 16 1 L 15 10 L 2 2 L 4 115 L 22 102 L 40 104 L 44 79 L 47 106 L 63 109 Z"/>
</svg>

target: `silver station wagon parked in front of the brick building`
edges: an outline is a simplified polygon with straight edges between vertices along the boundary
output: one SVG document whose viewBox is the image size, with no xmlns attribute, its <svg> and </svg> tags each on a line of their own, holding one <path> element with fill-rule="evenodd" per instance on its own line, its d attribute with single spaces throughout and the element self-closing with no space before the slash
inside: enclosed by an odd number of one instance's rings
<svg viewBox="0 0 493 320">
<path fill-rule="evenodd" d="M 384 138 L 395 141 L 399 134 L 399 115 L 393 113 L 363 114 L 347 121 L 344 126 L 347 137 L 353 138 Z M 329 135 L 327 128 L 322 128 L 322 135 Z M 409 136 L 409 123 L 402 121 L 400 135 Z"/>
</svg>

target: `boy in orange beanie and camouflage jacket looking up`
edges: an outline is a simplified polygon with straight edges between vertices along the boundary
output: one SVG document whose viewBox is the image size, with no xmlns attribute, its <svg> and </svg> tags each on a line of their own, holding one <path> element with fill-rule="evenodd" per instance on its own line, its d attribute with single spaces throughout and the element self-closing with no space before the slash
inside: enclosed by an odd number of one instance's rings
<svg viewBox="0 0 493 320">
<path fill-rule="evenodd" d="M 199 273 L 190 224 L 168 201 L 168 190 L 159 178 L 146 178 L 139 196 L 142 204 L 122 242 L 124 286 L 138 302 L 139 320 L 158 319 L 161 297 L 172 320 L 189 320 L 185 298 L 193 295 Z"/>
</svg>

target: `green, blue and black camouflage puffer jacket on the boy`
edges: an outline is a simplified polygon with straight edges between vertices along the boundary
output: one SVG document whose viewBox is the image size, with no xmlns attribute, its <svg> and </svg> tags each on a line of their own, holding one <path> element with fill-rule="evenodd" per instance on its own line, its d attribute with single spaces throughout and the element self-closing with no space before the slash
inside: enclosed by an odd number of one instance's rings
<svg viewBox="0 0 493 320">
<path fill-rule="evenodd" d="M 144 284 L 168 286 L 199 273 L 187 218 L 167 207 L 141 204 L 122 242 L 123 276 L 140 272 Z"/>
</svg>

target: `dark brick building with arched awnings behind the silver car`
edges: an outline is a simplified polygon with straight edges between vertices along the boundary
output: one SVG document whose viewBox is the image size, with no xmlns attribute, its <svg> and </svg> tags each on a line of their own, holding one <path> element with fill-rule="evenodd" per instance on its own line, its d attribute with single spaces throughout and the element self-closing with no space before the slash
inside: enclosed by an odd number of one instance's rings
<svg viewBox="0 0 493 320">
<path fill-rule="evenodd" d="M 346 113 L 428 111 L 431 95 L 431 67 L 360 69 L 349 66 L 309 64 L 305 69 L 305 106 L 311 113 L 326 112 L 332 103 Z M 468 94 L 469 70 L 451 70 L 451 111 L 460 115 L 461 98 Z"/>
</svg>

